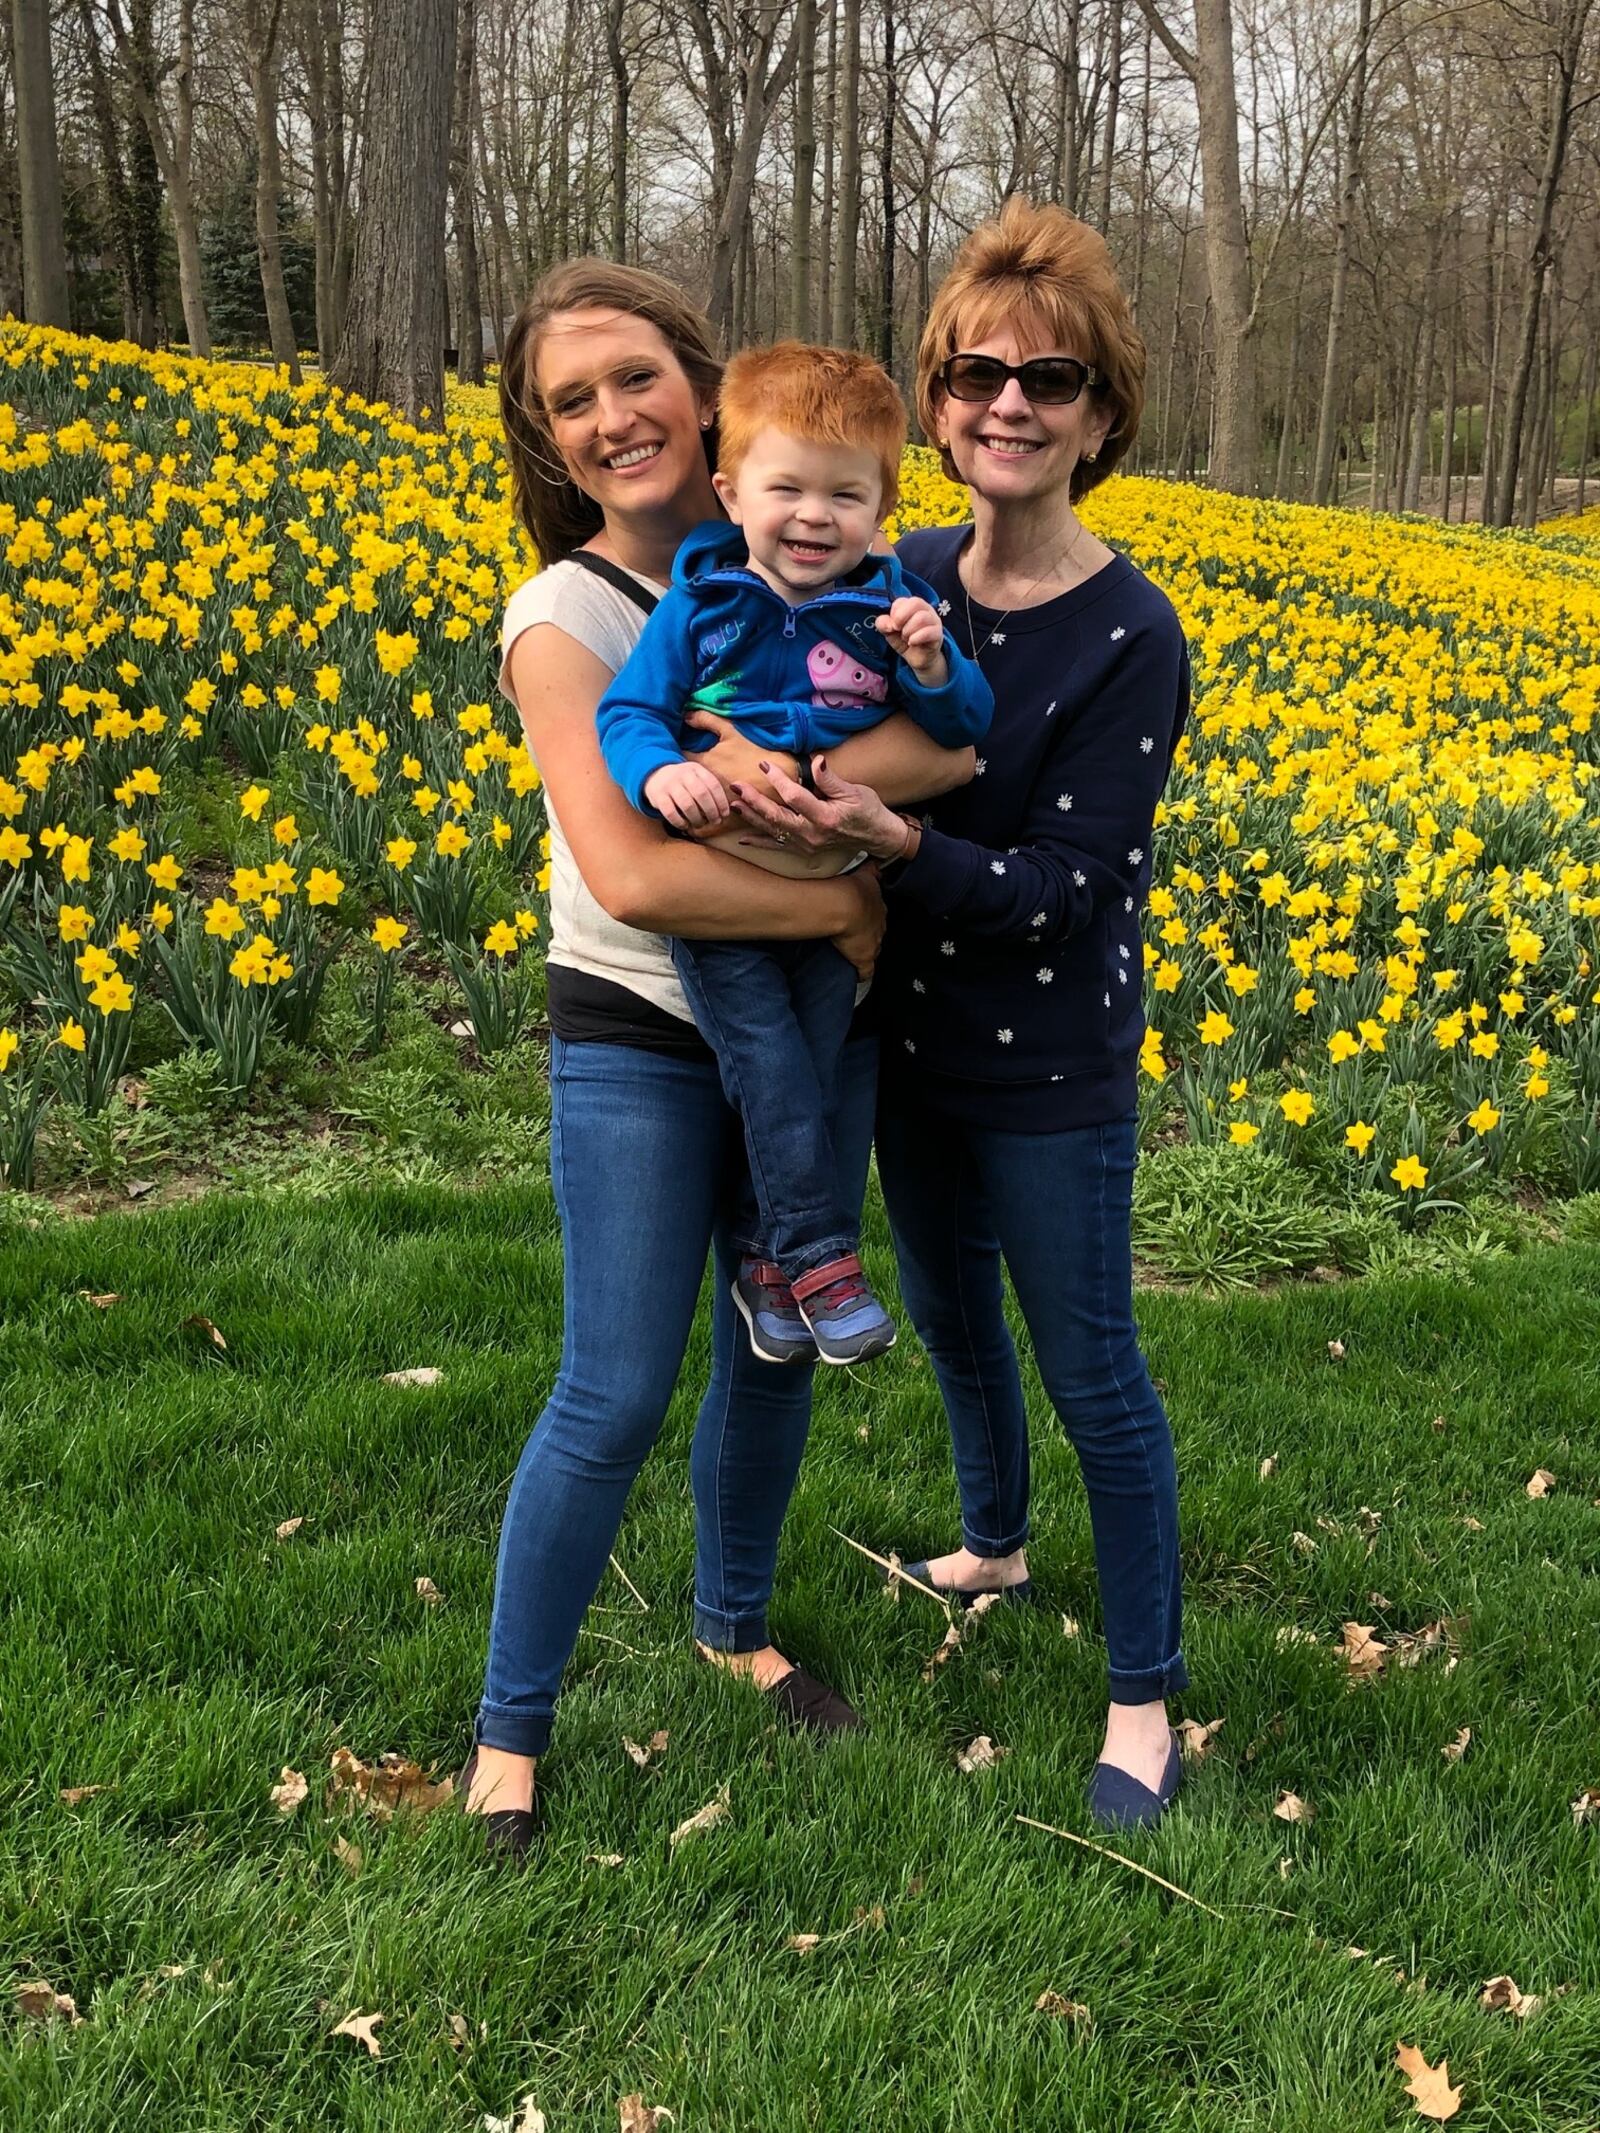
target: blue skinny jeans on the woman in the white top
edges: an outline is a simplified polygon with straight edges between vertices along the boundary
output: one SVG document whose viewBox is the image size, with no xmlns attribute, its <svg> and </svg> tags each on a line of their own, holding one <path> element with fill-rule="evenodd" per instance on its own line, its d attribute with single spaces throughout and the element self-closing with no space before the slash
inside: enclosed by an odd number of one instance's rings
<svg viewBox="0 0 1600 2133">
<path fill-rule="evenodd" d="M 866 1188 L 877 1045 L 841 1064 L 838 1154 Z M 730 1288 L 738 1122 L 717 1069 L 629 1045 L 550 1041 L 550 1175 L 561 1214 L 561 1369 L 523 1448 L 499 1534 L 478 1741 L 540 1755 L 561 1674 L 627 1491 L 666 1416 L 717 1252 L 713 1365 L 689 1457 L 695 1636 L 768 1642 L 779 1527 L 811 1421 L 811 1372 L 751 1354 Z"/>
</svg>

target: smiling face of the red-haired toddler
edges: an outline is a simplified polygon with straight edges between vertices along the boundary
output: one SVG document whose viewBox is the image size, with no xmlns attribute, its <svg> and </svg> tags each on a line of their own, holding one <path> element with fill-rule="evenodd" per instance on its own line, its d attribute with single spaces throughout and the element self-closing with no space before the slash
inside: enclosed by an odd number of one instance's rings
<svg viewBox="0 0 1600 2133">
<path fill-rule="evenodd" d="M 855 570 L 883 514 L 883 474 L 873 452 L 811 444 L 781 429 L 757 431 L 738 469 L 715 482 L 745 533 L 751 570 L 789 602 Z"/>
</svg>

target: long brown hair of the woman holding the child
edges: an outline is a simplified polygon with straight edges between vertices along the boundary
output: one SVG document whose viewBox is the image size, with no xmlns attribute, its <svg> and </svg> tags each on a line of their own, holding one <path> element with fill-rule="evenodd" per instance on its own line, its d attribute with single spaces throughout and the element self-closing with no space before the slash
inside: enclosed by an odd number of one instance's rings
<svg viewBox="0 0 1600 2133">
<path fill-rule="evenodd" d="M 572 480 L 550 433 L 535 367 L 540 335 L 561 311 L 629 311 L 649 320 L 678 358 L 689 384 L 715 399 L 721 363 L 710 326 L 663 275 L 614 260 L 565 260 L 540 275 L 512 320 L 499 365 L 499 418 L 512 465 L 516 516 L 540 552 L 540 570 L 561 563 L 599 533 L 604 514 Z M 706 431 L 706 465 L 717 465 L 717 424 Z"/>
</svg>

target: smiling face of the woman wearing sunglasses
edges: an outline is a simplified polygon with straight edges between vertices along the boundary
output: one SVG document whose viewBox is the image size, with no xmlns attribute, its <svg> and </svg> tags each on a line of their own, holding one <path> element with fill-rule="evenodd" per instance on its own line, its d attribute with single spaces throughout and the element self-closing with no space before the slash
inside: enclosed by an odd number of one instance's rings
<svg viewBox="0 0 1600 2133">
<path fill-rule="evenodd" d="M 1058 346 L 1022 320 L 981 341 L 962 341 L 960 352 L 1011 365 L 1030 356 L 1090 360 L 1088 350 Z M 966 486 L 990 503 L 1069 488 L 1073 467 L 1086 452 L 1099 452 L 1114 418 L 1111 405 L 1088 386 L 1067 407 L 1035 407 L 1015 378 L 1007 378 L 992 401 L 958 401 L 941 386 L 937 410 L 939 442 L 947 444 Z"/>
</svg>

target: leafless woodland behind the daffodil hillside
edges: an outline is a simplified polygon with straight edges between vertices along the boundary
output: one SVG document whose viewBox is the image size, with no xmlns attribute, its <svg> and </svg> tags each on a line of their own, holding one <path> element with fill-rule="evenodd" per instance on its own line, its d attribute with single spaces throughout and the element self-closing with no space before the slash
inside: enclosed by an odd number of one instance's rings
<svg viewBox="0 0 1600 2133">
<path fill-rule="evenodd" d="M 1020 190 L 1111 241 L 1139 471 L 1532 525 L 1594 497 L 1598 53 L 1596 0 L 9 0 L 0 311 L 416 416 L 606 252 L 905 382 Z"/>
</svg>

